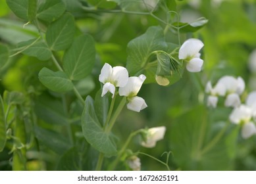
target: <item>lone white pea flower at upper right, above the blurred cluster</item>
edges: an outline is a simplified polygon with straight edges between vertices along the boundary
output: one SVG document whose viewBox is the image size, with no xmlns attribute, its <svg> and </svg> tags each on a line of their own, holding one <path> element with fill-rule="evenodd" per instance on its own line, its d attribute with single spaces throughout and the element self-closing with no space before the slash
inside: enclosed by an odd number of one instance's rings
<svg viewBox="0 0 256 184">
<path fill-rule="evenodd" d="M 199 39 L 191 38 L 186 40 L 179 51 L 179 59 L 184 59 L 189 72 L 200 72 L 203 60 L 200 58 L 199 51 L 203 48 L 203 42 Z"/>
</svg>

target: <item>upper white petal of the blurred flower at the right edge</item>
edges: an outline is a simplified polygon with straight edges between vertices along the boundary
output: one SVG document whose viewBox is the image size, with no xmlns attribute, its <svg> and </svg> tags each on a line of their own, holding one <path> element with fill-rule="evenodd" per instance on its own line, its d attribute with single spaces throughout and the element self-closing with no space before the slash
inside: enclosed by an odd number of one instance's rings
<svg viewBox="0 0 256 184">
<path fill-rule="evenodd" d="M 229 120 L 233 124 L 240 124 L 240 122 L 249 122 L 251 120 L 252 110 L 248 106 L 241 105 L 232 110 Z"/>
</svg>

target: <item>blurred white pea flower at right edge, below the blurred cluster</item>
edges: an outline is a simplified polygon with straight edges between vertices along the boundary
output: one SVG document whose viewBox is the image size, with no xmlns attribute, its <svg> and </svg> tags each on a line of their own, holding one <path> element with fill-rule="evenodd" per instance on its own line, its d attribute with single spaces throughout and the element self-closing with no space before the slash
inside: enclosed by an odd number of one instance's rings
<svg viewBox="0 0 256 184">
<path fill-rule="evenodd" d="M 241 105 L 230 114 L 230 122 L 234 124 L 242 124 L 242 137 L 243 139 L 248 139 L 251 135 L 256 134 L 256 127 L 251 118 L 253 115 L 253 110 L 249 106 Z"/>
</svg>

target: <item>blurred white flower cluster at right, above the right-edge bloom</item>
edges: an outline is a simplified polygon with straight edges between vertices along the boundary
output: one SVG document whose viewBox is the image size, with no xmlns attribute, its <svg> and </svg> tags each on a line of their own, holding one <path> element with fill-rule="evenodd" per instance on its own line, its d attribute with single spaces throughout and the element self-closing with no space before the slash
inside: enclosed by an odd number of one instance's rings
<svg viewBox="0 0 256 184">
<path fill-rule="evenodd" d="M 227 107 L 240 106 L 240 95 L 242 95 L 244 89 L 245 83 L 240 77 L 223 76 L 214 87 L 211 81 L 208 81 L 205 87 L 205 92 L 209 94 L 207 106 L 216 108 L 218 97 L 225 97 L 224 105 Z"/>
</svg>

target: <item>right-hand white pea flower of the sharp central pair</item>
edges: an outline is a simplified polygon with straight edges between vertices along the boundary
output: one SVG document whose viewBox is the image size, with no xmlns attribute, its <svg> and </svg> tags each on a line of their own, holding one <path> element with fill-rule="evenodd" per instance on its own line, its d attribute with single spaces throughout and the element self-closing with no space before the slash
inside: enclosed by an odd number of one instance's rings
<svg viewBox="0 0 256 184">
<path fill-rule="evenodd" d="M 145 79 L 146 77 L 143 74 L 141 74 L 139 77 L 130 77 L 128 78 L 128 82 L 124 87 L 119 87 L 119 95 L 126 96 L 128 99 L 128 109 L 140 112 L 140 110 L 147 107 L 145 100 L 141 97 L 137 97 L 137 94 L 140 91 L 141 85 Z"/>
</svg>

